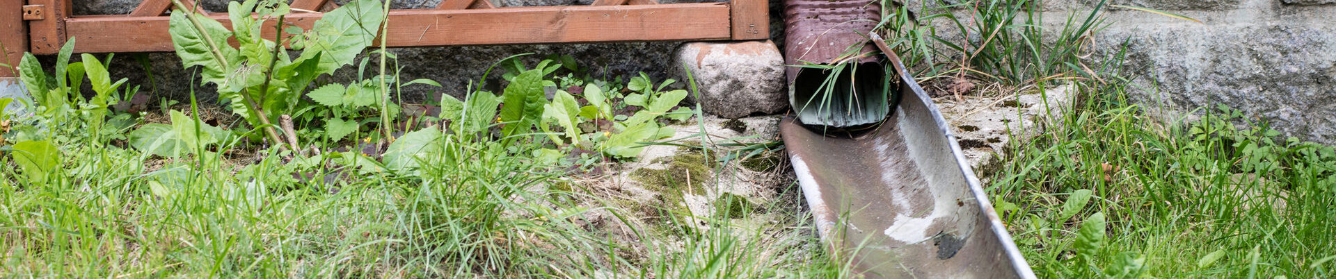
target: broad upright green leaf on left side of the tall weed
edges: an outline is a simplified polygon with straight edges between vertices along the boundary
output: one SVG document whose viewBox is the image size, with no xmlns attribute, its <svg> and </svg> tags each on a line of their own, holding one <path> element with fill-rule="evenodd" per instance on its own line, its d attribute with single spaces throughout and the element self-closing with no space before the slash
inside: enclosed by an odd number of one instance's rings
<svg viewBox="0 0 1336 279">
<path fill-rule="evenodd" d="M 212 44 L 204 40 L 200 31 L 195 29 L 191 19 L 186 17 L 186 12 L 174 11 L 171 13 L 170 32 L 176 56 L 180 56 L 182 64 L 187 68 L 202 67 L 200 76 L 203 77 L 203 83 L 224 84 L 227 73 L 232 69 L 223 65 L 236 67 L 240 63 L 240 55 L 236 48 L 227 44 L 227 39 L 231 37 L 232 32 L 227 31 L 218 20 L 199 13 L 191 13 L 191 16 L 202 24 L 203 32 L 208 35 Z M 218 52 L 214 52 L 211 45 L 216 45 Z"/>
</svg>

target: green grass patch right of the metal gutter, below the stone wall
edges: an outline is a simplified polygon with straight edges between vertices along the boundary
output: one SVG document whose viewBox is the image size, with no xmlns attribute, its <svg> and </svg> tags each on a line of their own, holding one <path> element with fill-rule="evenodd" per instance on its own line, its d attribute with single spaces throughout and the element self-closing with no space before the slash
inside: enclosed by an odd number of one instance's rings
<svg viewBox="0 0 1336 279">
<path fill-rule="evenodd" d="M 1228 109 L 1164 127 L 1121 84 L 1078 88 L 1085 101 L 1010 150 L 987 188 L 1039 275 L 1332 275 L 1332 147 L 1280 139 Z M 1092 194 L 1088 206 L 1078 191 Z M 1078 227 L 1096 212 L 1108 240 L 1081 248 Z"/>
</svg>

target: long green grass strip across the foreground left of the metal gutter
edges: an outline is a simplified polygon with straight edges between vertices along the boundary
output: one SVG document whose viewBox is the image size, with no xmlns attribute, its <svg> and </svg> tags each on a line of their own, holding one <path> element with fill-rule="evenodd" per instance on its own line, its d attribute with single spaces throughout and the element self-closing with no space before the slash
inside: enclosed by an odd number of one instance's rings
<svg viewBox="0 0 1336 279">
<path fill-rule="evenodd" d="M 569 163 L 528 156 L 549 147 L 542 133 L 501 140 L 444 132 L 424 144 L 421 168 L 387 168 L 357 152 L 293 156 L 244 136 L 166 159 L 112 139 L 115 131 L 91 136 L 81 117 L 13 123 L 20 137 L 49 140 L 59 151 L 55 168 L 31 176 L 36 172 L 15 162 L 23 151 L 3 148 L 3 276 L 839 278 L 848 271 L 819 244 L 796 186 L 758 204 L 756 218 L 697 216 L 577 183 L 587 178 L 568 174 Z"/>
</svg>

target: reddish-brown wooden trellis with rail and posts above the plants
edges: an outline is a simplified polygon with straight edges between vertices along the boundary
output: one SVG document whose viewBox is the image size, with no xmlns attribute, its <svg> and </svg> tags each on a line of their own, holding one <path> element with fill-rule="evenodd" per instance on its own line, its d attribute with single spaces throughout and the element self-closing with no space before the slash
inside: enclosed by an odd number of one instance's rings
<svg viewBox="0 0 1336 279">
<path fill-rule="evenodd" d="M 130 15 L 72 16 L 72 0 L 0 0 L 0 43 L 7 49 L 52 55 L 69 37 L 75 52 L 170 52 L 171 0 L 144 0 Z M 194 5 L 198 0 L 182 0 Z M 21 19 L 20 8 L 41 16 Z M 295 0 L 293 8 L 327 12 L 330 0 Z M 28 9 L 24 8 L 24 9 Z M 199 11 L 203 12 L 203 11 Z M 227 13 L 204 13 L 228 27 Z M 323 13 L 297 12 L 287 23 L 310 28 Z M 596 0 L 595 5 L 502 7 L 492 0 L 445 0 L 428 9 L 393 9 L 389 47 L 549 44 L 652 40 L 758 40 L 770 36 L 767 0 L 657 4 Z M 27 31 L 16 28 L 27 25 Z M 27 21 L 23 24 L 21 21 Z M 8 24 L 8 25 L 5 25 Z M 273 28 L 263 28 L 274 36 Z M 27 37 L 27 39 L 24 39 Z M 28 45 L 11 41 L 25 41 Z M 8 51 L 5 57 L 15 56 Z M 0 69 L 0 76 L 12 76 Z"/>
</svg>

